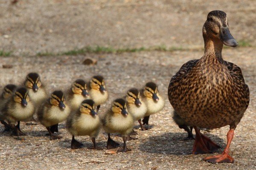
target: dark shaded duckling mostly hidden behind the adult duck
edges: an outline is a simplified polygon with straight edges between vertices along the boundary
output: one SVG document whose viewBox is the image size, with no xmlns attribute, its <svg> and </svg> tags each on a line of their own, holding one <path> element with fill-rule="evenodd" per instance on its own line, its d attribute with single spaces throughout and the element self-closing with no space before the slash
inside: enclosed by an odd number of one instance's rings
<svg viewBox="0 0 256 170">
<path fill-rule="evenodd" d="M 188 137 L 184 138 L 184 140 L 195 139 L 192 133 L 193 127 L 190 126 L 189 129 L 188 124 L 183 119 L 181 119 L 181 117 L 177 114 L 176 111 L 173 112 L 172 119 L 180 127 L 180 129 L 184 129 L 188 133 Z"/>
</svg>

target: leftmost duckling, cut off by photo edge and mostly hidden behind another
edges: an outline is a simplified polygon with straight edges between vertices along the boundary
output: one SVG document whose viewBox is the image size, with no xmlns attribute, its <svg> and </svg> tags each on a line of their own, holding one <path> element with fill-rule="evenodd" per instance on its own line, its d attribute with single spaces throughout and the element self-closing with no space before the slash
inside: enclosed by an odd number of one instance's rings
<svg viewBox="0 0 256 170">
<path fill-rule="evenodd" d="M 9 84 L 6 85 L 3 88 L 3 93 L 0 96 L 0 111 L 3 109 L 3 107 L 5 106 L 6 102 L 8 101 L 8 99 L 13 95 L 13 92 L 15 91 L 15 89 L 17 88 L 16 85 L 13 84 Z M 4 121 L 4 116 L 2 116 L 2 114 L 0 114 L 0 122 L 4 125 L 5 130 L 4 131 L 8 131 L 10 129 L 9 125 Z"/>
</svg>

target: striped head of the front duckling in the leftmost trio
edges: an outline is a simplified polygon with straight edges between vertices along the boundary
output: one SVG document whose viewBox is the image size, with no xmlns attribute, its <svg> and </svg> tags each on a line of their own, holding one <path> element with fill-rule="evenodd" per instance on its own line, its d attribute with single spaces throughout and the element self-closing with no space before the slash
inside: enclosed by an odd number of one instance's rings
<svg viewBox="0 0 256 170">
<path fill-rule="evenodd" d="M 29 102 L 29 95 L 26 88 L 18 88 L 13 96 L 15 102 L 20 103 L 23 107 L 26 107 Z"/>
</svg>

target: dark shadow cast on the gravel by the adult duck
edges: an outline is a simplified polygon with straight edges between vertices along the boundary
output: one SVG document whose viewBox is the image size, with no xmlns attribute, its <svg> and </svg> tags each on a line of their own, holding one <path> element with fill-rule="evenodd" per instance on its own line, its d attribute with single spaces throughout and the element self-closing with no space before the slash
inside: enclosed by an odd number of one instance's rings
<svg viewBox="0 0 256 170">
<path fill-rule="evenodd" d="M 216 135 L 207 134 L 207 136 L 216 142 L 221 148 L 221 152 L 226 145 L 224 140 Z M 164 133 L 160 136 L 150 136 L 144 142 L 141 142 L 139 149 L 148 153 L 160 153 L 164 155 L 190 155 L 194 140 L 186 141 L 186 133 Z"/>
</svg>

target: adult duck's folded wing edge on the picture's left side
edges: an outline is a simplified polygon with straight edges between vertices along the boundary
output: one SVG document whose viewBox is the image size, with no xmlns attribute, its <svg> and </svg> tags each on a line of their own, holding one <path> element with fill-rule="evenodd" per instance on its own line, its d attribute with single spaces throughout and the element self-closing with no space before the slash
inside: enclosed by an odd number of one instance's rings
<svg viewBox="0 0 256 170">
<path fill-rule="evenodd" d="M 172 77 L 170 84 L 169 84 L 169 88 L 172 87 L 173 85 L 175 85 L 176 82 L 179 82 L 180 79 L 182 79 L 183 74 L 186 74 L 193 67 L 195 67 L 195 65 L 198 61 L 199 61 L 199 59 L 193 59 L 193 60 L 190 60 L 190 61 L 186 62 L 185 64 L 183 64 L 181 66 L 180 70 Z"/>
</svg>

